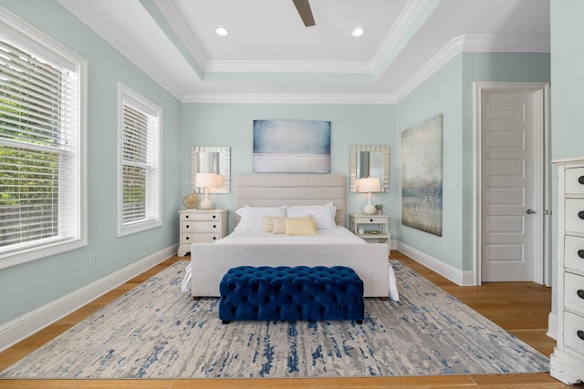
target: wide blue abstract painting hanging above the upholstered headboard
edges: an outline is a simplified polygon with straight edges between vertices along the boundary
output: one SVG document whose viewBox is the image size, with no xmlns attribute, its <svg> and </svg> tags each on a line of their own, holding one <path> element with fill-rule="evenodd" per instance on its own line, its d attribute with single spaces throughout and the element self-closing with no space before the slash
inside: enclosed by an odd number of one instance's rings
<svg viewBox="0 0 584 389">
<path fill-rule="evenodd" d="M 330 122 L 254 120 L 254 171 L 330 173 Z"/>
</svg>

